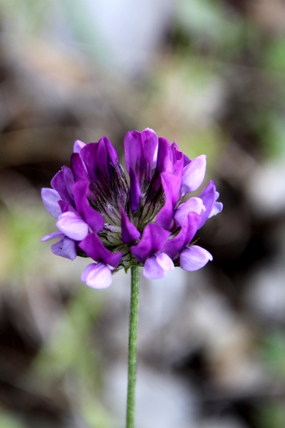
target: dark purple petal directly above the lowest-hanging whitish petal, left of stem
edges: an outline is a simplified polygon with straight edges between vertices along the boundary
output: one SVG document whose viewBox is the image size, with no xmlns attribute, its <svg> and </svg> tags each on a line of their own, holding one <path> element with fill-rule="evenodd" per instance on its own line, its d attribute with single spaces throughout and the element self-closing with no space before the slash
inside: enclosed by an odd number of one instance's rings
<svg viewBox="0 0 285 428">
<path fill-rule="evenodd" d="M 122 253 L 113 253 L 112 251 L 107 250 L 104 247 L 103 243 L 100 241 L 95 233 L 89 233 L 86 238 L 79 244 L 85 253 L 95 260 L 98 263 L 105 263 L 105 265 L 118 267 L 121 258 L 123 257 Z"/>
</svg>

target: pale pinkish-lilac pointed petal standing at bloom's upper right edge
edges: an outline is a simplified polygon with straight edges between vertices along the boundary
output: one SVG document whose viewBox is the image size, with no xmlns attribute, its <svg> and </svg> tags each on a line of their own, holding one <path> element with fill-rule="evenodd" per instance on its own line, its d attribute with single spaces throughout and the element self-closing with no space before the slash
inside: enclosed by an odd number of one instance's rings
<svg viewBox="0 0 285 428">
<path fill-rule="evenodd" d="M 204 175 L 206 173 L 206 156 L 201 155 L 193 159 L 192 162 L 187 165 L 182 174 L 182 196 L 186 193 L 195 192 L 197 188 L 202 184 Z"/>
</svg>

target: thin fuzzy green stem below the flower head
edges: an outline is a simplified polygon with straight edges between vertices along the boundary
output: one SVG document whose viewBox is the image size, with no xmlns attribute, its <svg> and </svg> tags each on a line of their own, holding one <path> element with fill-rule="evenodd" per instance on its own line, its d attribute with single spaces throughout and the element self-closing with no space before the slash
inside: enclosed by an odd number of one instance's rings
<svg viewBox="0 0 285 428">
<path fill-rule="evenodd" d="M 135 371 L 137 354 L 138 331 L 138 295 L 140 287 L 140 267 L 132 266 L 130 292 L 130 330 L 128 358 L 128 399 L 126 428 L 135 427 Z"/>
</svg>

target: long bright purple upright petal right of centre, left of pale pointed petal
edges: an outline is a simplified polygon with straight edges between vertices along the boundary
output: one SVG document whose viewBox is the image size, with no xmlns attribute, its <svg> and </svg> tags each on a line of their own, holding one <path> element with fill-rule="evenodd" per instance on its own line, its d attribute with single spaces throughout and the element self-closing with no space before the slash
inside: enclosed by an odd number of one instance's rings
<svg viewBox="0 0 285 428">
<path fill-rule="evenodd" d="M 165 191 L 165 205 L 157 214 L 156 222 L 162 228 L 170 229 L 173 225 L 173 211 L 177 204 L 181 179 L 179 175 L 172 173 L 162 173 L 160 177 Z"/>
</svg>

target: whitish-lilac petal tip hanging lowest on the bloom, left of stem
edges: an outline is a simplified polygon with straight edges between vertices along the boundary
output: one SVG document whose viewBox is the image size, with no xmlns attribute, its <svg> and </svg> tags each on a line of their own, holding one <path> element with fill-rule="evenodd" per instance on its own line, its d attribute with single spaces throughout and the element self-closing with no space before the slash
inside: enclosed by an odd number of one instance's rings
<svg viewBox="0 0 285 428">
<path fill-rule="evenodd" d="M 103 263 L 91 263 L 83 270 L 81 281 L 88 287 L 107 288 L 112 284 L 112 272 Z"/>
</svg>

